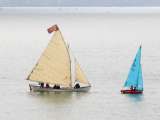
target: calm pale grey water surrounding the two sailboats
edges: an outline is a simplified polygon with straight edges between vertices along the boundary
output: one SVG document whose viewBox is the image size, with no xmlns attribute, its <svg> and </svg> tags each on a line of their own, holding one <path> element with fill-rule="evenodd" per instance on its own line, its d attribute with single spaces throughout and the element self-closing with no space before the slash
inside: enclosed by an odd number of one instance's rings
<svg viewBox="0 0 160 120">
<path fill-rule="evenodd" d="M 57 23 L 85 71 L 88 93 L 34 93 L 27 75 Z M 142 44 L 143 95 L 122 95 Z M 1 120 L 158 120 L 160 14 L 0 12 Z"/>
</svg>

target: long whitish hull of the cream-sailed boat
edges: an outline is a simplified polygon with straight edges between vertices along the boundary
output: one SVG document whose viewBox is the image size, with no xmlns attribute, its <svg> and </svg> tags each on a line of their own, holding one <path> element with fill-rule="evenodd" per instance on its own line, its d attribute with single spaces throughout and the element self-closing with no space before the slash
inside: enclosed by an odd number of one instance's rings
<svg viewBox="0 0 160 120">
<path fill-rule="evenodd" d="M 54 88 L 42 88 L 37 85 L 29 84 L 31 91 L 37 91 L 37 92 L 87 92 L 90 90 L 91 86 L 85 86 L 80 88 L 60 88 L 60 89 L 54 89 Z"/>
</svg>

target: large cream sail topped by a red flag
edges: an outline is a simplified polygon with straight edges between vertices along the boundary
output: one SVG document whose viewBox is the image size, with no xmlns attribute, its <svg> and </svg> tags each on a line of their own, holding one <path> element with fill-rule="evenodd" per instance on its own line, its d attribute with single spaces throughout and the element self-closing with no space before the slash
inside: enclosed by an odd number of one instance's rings
<svg viewBox="0 0 160 120">
<path fill-rule="evenodd" d="M 71 61 L 68 47 L 57 25 L 48 29 L 49 33 L 53 31 L 55 33 L 51 41 L 28 76 L 28 80 L 71 87 Z"/>
</svg>

